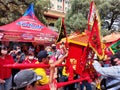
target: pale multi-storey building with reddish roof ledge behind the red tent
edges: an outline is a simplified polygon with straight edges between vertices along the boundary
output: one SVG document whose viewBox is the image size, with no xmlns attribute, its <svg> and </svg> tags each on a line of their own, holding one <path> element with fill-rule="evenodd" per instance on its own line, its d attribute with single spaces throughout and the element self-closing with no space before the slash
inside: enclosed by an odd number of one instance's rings
<svg viewBox="0 0 120 90">
<path fill-rule="evenodd" d="M 70 8 L 70 0 L 50 0 L 50 8 L 44 13 L 50 28 L 54 28 L 56 20 L 65 17 L 67 10 Z"/>
</svg>

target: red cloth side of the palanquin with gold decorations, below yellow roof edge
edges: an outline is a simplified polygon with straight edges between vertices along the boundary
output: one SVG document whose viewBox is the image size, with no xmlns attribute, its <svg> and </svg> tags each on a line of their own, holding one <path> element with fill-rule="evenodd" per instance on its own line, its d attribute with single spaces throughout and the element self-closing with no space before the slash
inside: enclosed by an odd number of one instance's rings
<svg viewBox="0 0 120 90">
<path fill-rule="evenodd" d="M 82 73 L 82 70 L 83 70 L 82 68 L 84 67 L 82 66 L 83 62 L 81 62 L 80 58 L 82 55 L 83 48 L 84 46 L 69 43 L 69 54 L 66 60 L 66 67 L 67 67 L 66 70 L 67 70 L 67 73 L 69 73 L 68 80 L 73 80 L 74 73 L 78 69 L 77 67 L 78 65 L 80 65 L 79 74 Z"/>
</svg>

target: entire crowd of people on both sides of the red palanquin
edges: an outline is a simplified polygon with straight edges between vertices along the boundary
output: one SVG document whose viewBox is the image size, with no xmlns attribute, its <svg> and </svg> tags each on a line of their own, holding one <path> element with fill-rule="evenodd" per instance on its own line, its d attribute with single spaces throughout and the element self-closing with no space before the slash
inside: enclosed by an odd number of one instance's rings
<svg viewBox="0 0 120 90">
<path fill-rule="evenodd" d="M 50 90 L 57 90 L 53 82 L 68 81 L 69 73 L 66 73 L 66 67 L 56 67 L 59 64 L 65 64 L 68 56 L 68 49 L 62 43 L 59 48 L 52 44 L 51 46 L 37 48 L 33 46 L 16 45 L 9 49 L 5 45 L 0 47 L 0 90 L 36 90 L 36 86 L 49 85 Z M 94 69 L 104 78 L 105 84 L 101 85 L 101 90 L 119 90 L 120 89 L 120 52 L 109 57 L 109 63 L 106 66 L 98 59 L 92 63 Z M 71 63 L 75 63 L 72 61 Z M 30 68 L 30 69 L 11 69 L 3 67 L 5 64 L 41 64 L 50 67 Z M 74 79 L 80 78 L 77 74 Z M 83 76 L 84 77 L 84 76 Z M 62 90 L 96 90 L 93 88 L 92 81 L 82 81 L 62 87 Z M 42 90 L 42 89 L 41 89 Z M 47 89 L 43 89 L 47 90 Z"/>
</svg>

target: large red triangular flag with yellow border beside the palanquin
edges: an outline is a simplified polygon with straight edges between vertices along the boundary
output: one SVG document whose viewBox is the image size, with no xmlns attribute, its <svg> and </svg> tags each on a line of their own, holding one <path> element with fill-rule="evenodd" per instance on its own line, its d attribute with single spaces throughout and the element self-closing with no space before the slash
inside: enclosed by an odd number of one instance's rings
<svg viewBox="0 0 120 90">
<path fill-rule="evenodd" d="M 89 37 L 89 45 L 100 59 L 104 57 L 103 43 L 101 42 L 100 28 L 96 17 Z"/>
</svg>

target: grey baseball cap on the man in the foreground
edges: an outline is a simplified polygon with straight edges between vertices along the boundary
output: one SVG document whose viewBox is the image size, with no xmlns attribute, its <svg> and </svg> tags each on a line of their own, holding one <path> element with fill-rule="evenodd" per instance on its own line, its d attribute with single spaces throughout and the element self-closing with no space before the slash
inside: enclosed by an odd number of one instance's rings
<svg viewBox="0 0 120 90">
<path fill-rule="evenodd" d="M 14 76 L 14 83 L 16 84 L 15 89 L 23 88 L 27 85 L 30 85 L 34 81 L 42 79 L 41 76 L 38 76 L 33 70 L 24 69 L 18 72 Z"/>
</svg>

